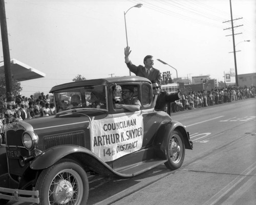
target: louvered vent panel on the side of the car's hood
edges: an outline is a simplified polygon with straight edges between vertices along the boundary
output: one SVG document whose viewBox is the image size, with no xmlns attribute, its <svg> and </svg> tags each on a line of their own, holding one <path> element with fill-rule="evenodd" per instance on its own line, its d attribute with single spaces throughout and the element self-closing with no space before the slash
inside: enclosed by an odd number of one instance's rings
<svg viewBox="0 0 256 205">
<path fill-rule="evenodd" d="M 84 147 L 84 131 L 50 135 L 44 138 L 44 150 L 58 145 L 79 145 Z"/>
</svg>

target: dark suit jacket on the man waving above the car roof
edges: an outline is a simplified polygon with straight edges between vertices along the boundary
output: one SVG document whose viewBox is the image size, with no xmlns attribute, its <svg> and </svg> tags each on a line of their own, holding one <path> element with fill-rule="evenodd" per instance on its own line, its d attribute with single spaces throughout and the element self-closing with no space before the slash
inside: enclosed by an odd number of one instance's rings
<svg viewBox="0 0 256 205">
<path fill-rule="evenodd" d="M 150 75 L 148 77 L 146 77 L 146 70 L 145 70 L 144 66 L 142 66 L 142 65 L 136 66 L 131 61 L 129 63 L 126 63 L 126 65 L 129 68 L 129 70 L 132 73 L 134 73 L 136 76 L 147 78 L 150 81 L 156 80 L 158 82 L 158 84 L 161 85 L 160 71 L 157 69 L 154 69 L 154 67 L 152 67 Z"/>
</svg>

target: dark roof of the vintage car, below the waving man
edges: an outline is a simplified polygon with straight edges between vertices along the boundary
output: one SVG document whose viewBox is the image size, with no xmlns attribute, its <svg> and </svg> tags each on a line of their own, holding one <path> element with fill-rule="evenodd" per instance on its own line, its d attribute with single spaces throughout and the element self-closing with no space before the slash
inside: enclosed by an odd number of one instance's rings
<svg viewBox="0 0 256 205">
<path fill-rule="evenodd" d="M 108 83 L 121 83 L 121 82 L 148 82 L 151 83 L 147 78 L 139 77 L 139 76 L 123 76 L 123 77 L 110 77 L 110 78 L 99 78 L 92 80 L 83 80 L 77 82 L 70 82 L 65 84 L 60 84 L 52 87 L 50 93 L 56 92 L 61 89 L 86 86 L 86 85 L 106 85 Z"/>
</svg>

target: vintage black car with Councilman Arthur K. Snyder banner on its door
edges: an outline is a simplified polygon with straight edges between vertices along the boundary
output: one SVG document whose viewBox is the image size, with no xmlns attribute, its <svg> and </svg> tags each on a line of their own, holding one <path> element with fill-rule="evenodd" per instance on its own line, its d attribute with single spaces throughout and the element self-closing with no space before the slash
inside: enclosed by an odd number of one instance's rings
<svg viewBox="0 0 256 205">
<path fill-rule="evenodd" d="M 133 87 L 141 110 L 117 109 L 121 87 Z M 86 204 L 88 174 L 133 177 L 160 164 L 181 167 L 192 149 L 185 127 L 154 110 L 152 83 L 129 76 L 53 87 L 57 114 L 12 123 L 8 174 L 0 198 L 39 204 Z"/>
</svg>

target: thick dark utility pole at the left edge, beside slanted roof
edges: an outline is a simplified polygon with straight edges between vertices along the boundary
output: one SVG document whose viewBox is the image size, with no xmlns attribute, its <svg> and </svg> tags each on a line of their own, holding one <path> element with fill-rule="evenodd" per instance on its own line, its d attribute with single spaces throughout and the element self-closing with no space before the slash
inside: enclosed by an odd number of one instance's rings
<svg viewBox="0 0 256 205">
<path fill-rule="evenodd" d="M 11 102 L 12 101 L 12 74 L 11 74 L 11 61 L 10 61 L 10 51 L 9 51 L 4 0 L 0 0 L 0 24 L 1 24 L 1 35 L 2 35 L 2 45 L 3 45 L 3 54 L 4 54 L 6 99 L 7 99 L 7 102 Z"/>
</svg>

